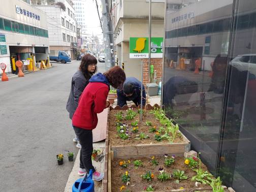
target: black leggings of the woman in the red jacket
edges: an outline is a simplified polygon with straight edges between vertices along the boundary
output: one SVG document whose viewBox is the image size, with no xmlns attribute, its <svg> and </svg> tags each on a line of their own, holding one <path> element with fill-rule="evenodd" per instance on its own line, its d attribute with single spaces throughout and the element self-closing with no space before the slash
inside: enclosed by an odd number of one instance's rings
<svg viewBox="0 0 256 192">
<path fill-rule="evenodd" d="M 91 162 L 91 155 L 93 151 L 92 130 L 85 130 L 76 126 L 73 127 L 82 146 L 80 150 L 80 168 L 85 169 L 87 173 L 89 173 L 90 169 L 94 172 L 95 169 Z"/>
</svg>

